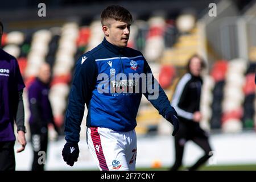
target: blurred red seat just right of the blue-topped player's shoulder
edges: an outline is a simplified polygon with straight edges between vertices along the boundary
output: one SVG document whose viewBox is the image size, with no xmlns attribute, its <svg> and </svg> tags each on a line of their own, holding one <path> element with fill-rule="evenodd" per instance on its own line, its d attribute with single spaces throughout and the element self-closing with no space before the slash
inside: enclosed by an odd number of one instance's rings
<svg viewBox="0 0 256 182">
<path fill-rule="evenodd" d="M 169 65 L 163 65 L 160 69 L 159 84 L 163 89 L 168 88 L 171 85 L 172 78 L 174 78 L 176 72 L 175 68 Z"/>
</svg>

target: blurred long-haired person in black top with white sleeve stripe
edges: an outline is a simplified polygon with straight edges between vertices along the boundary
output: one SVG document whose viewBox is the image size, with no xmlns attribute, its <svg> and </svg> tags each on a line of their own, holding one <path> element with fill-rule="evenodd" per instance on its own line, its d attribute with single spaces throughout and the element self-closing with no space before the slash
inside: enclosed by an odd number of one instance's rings
<svg viewBox="0 0 256 182">
<path fill-rule="evenodd" d="M 176 171 L 181 166 L 184 146 L 188 140 L 192 140 L 204 150 L 204 155 L 188 170 L 197 169 L 210 158 L 209 152 L 212 149 L 208 142 L 208 134 L 201 129 L 199 123 L 202 118 L 200 97 L 203 68 L 205 68 L 203 59 L 198 55 L 193 55 L 188 60 L 187 73 L 181 77 L 172 98 L 172 106 L 177 111 L 180 129 L 175 135 L 175 163 L 170 168 L 171 171 Z"/>
</svg>

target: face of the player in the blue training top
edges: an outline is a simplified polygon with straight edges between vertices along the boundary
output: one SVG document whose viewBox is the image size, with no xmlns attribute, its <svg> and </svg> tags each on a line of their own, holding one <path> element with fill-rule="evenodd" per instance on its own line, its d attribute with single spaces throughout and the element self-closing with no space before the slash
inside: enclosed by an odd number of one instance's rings
<svg viewBox="0 0 256 182">
<path fill-rule="evenodd" d="M 131 22 L 120 22 L 111 19 L 106 24 L 108 26 L 102 27 L 106 40 L 115 46 L 126 47 L 130 35 Z"/>
</svg>

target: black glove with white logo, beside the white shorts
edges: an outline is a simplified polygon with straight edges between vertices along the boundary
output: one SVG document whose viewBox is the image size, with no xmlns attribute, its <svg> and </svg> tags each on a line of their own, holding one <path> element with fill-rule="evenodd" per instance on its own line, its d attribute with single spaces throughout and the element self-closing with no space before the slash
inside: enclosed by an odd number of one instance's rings
<svg viewBox="0 0 256 182">
<path fill-rule="evenodd" d="M 79 157 L 79 146 L 74 143 L 66 143 L 62 150 L 63 160 L 67 162 L 69 166 L 73 166 L 77 162 Z"/>
</svg>

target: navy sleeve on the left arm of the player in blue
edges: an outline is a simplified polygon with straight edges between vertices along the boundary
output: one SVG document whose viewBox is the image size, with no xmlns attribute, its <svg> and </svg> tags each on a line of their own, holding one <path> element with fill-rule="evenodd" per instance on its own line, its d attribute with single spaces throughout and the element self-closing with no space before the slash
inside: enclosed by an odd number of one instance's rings
<svg viewBox="0 0 256 182">
<path fill-rule="evenodd" d="M 73 84 L 69 93 L 69 104 L 65 117 L 65 139 L 70 143 L 78 143 L 80 126 L 84 117 L 85 103 L 89 103 L 92 90 L 97 80 L 96 61 L 86 55 L 88 59 L 81 64 L 81 58 L 77 61 Z"/>
</svg>

